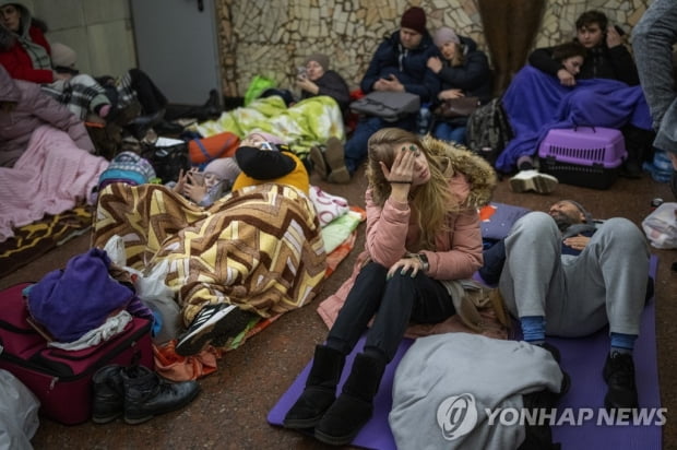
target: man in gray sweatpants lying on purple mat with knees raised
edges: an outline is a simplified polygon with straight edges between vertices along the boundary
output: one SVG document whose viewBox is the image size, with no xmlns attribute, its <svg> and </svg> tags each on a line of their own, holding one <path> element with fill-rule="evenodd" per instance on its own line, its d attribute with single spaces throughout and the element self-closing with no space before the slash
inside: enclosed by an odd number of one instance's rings
<svg viewBox="0 0 677 450">
<path fill-rule="evenodd" d="M 638 407 L 632 350 L 648 294 L 649 256 L 632 222 L 615 217 L 595 225 L 583 205 L 562 200 L 548 213 L 519 218 L 504 240 L 485 251 L 479 273 L 498 282 L 524 340 L 556 359 L 559 351 L 546 334 L 583 336 L 608 323 L 604 405 L 632 408 Z"/>
</svg>

